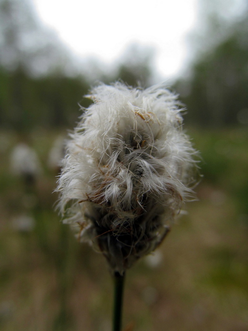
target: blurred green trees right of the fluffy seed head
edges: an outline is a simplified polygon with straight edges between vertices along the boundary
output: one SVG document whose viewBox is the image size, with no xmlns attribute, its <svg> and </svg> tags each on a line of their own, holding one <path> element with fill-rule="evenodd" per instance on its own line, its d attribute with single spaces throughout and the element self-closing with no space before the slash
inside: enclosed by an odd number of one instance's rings
<svg viewBox="0 0 248 331">
<path fill-rule="evenodd" d="M 204 10 L 213 1 L 202 0 Z M 248 124 L 248 10 L 234 21 L 225 17 L 225 3 L 206 13 L 207 28 L 195 38 L 198 52 L 186 78 L 175 89 L 190 110 L 187 120 L 204 126 Z M 230 10 L 230 8 L 227 9 Z"/>
</svg>

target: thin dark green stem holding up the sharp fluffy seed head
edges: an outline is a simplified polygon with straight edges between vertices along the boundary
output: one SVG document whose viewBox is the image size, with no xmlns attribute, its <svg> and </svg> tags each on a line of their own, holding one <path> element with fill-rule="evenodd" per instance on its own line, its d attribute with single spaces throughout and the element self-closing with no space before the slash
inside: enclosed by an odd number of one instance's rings
<svg viewBox="0 0 248 331">
<path fill-rule="evenodd" d="M 114 274 L 113 331 L 121 331 L 122 301 L 125 275 Z"/>
</svg>

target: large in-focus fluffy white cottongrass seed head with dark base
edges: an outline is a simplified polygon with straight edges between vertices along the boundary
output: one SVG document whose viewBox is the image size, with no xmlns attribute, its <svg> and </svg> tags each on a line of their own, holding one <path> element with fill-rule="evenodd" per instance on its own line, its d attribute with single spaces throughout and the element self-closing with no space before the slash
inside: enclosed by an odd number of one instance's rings
<svg viewBox="0 0 248 331">
<path fill-rule="evenodd" d="M 70 134 L 57 191 L 65 223 L 123 274 L 164 239 L 191 195 L 196 151 L 163 86 L 95 87 Z"/>
</svg>

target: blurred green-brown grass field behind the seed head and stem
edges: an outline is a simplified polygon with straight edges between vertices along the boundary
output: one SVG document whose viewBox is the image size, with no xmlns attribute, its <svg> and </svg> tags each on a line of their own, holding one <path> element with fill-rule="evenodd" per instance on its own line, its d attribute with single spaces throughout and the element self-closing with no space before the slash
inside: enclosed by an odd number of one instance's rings
<svg viewBox="0 0 248 331">
<path fill-rule="evenodd" d="M 198 201 L 185 206 L 158 252 L 127 272 L 124 329 L 247 331 L 247 128 L 187 132 L 202 157 Z M 54 210 L 57 173 L 47 160 L 58 134 L 66 136 L 41 129 L 29 134 L 42 164 L 29 186 L 10 171 L 11 152 L 22 137 L 0 134 L 3 331 L 111 329 L 105 260 L 79 244 Z"/>
</svg>

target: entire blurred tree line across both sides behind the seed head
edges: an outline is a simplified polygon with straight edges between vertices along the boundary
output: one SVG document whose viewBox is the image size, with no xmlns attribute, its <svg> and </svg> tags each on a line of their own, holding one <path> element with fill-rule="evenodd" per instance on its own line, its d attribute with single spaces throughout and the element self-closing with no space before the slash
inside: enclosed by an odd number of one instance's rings
<svg viewBox="0 0 248 331">
<path fill-rule="evenodd" d="M 173 88 L 190 110 L 186 120 L 192 124 L 247 124 L 248 11 L 229 25 L 228 18 L 210 15 L 207 25 L 212 30 L 201 36 L 201 44 L 210 46 L 196 54 Z M 94 82 L 90 74 L 74 70 L 68 50 L 39 24 L 27 0 L 0 0 L 0 47 L 1 127 L 27 131 L 73 125 L 78 103 L 88 106 L 83 95 Z M 98 68 L 98 79 L 146 87 L 151 83 L 152 56 L 151 50 L 133 45 L 112 73 Z"/>
</svg>

